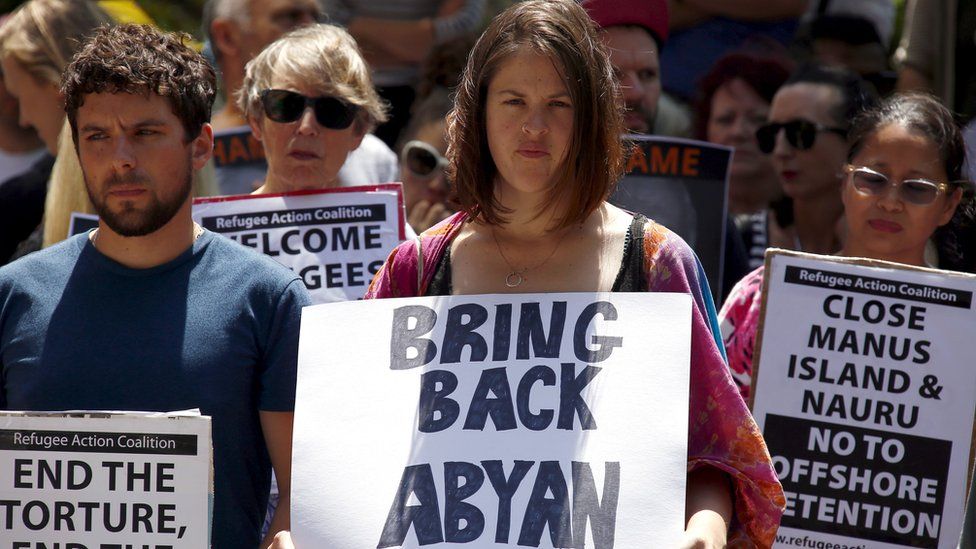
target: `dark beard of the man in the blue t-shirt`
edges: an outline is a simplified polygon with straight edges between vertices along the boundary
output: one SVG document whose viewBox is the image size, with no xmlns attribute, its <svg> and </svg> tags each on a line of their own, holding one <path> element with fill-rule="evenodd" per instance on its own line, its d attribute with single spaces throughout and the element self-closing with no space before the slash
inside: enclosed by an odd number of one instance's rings
<svg viewBox="0 0 976 549">
<path fill-rule="evenodd" d="M 103 189 L 107 193 L 115 185 L 144 184 L 147 182 L 150 182 L 150 180 L 139 173 L 130 172 L 122 176 L 113 174 L 104 182 Z M 176 215 L 176 212 L 186 202 L 187 197 L 190 196 L 190 192 L 193 190 L 193 169 L 188 162 L 183 183 L 171 200 L 161 201 L 155 196 L 152 196 L 152 200 L 146 206 L 145 210 L 137 210 L 131 202 L 124 200 L 121 203 L 121 210 L 110 210 L 105 201 L 102 200 L 102 197 L 92 193 L 92 185 L 87 175 L 85 175 L 85 189 L 88 191 L 88 198 L 95 207 L 95 213 L 98 214 L 99 219 L 104 221 L 109 229 L 112 229 L 116 234 L 126 237 L 146 236 L 147 234 L 158 231 L 163 225 L 169 223 L 173 219 L 173 216 Z M 153 190 L 155 189 L 150 186 L 149 192 Z"/>
</svg>

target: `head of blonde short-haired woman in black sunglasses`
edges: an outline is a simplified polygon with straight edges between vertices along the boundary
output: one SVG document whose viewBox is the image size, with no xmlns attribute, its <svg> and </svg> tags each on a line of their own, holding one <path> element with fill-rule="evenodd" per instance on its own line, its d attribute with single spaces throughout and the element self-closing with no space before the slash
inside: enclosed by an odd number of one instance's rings
<svg viewBox="0 0 976 549">
<path fill-rule="evenodd" d="M 247 64 L 237 101 L 268 161 L 255 194 L 337 186 L 346 157 L 386 120 L 356 42 L 332 25 L 265 48 Z"/>
</svg>

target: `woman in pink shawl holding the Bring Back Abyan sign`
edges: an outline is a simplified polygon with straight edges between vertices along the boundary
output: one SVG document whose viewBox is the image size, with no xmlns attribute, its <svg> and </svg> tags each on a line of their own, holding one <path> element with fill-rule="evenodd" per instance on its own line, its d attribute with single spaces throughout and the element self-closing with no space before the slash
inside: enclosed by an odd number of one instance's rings
<svg viewBox="0 0 976 549">
<path fill-rule="evenodd" d="M 530 0 L 499 15 L 468 58 L 450 116 L 462 212 L 397 248 L 366 297 L 690 294 L 686 544 L 768 546 L 783 495 L 727 374 L 701 265 L 674 233 L 606 202 L 625 157 L 618 94 L 575 2 Z"/>
</svg>

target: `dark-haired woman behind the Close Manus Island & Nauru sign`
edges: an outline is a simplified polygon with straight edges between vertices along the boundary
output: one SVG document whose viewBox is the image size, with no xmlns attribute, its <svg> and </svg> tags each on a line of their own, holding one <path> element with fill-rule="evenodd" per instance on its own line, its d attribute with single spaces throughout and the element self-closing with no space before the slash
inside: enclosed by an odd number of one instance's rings
<svg viewBox="0 0 976 549">
<path fill-rule="evenodd" d="M 847 238 L 839 255 L 948 269 L 971 265 L 959 241 L 972 226 L 965 157 L 952 114 L 929 95 L 895 95 L 856 119 L 843 166 Z M 934 241 L 934 247 L 929 244 Z M 719 313 L 729 366 L 749 395 L 763 268 L 733 288 Z"/>
</svg>

